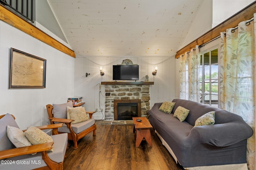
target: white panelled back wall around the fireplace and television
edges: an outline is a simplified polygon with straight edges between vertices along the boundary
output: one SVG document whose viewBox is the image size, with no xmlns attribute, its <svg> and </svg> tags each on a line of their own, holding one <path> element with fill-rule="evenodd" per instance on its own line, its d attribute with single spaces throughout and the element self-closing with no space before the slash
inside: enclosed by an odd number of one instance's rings
<svg viewBox="0 0 256 170">
<path fill-rule="evenodd" d="M 122 60 L 130 59 L 139 67 L 139 81 L 144 81 L 144 76 L 150 76 L 149 81 L 154 81 L 150 86 L 150 108 L 156 102 L 172 101 L 176 98 L 176 59 L 172 57 L 79 57 L 76 56 L 75 64 L 75 96 L 83 96 L 87 110 L 103 109 L 103 114 L 94 113 L 95 119 L 104 119 L 105 89 L 100 88 L 102 81 L 112 81 L 112 65 L 121 64 Z M 156 76 L 152 76 L 154 67 L 158 67 Z M 100 76 L 100 67 L 104 76 Z M 90 73 L 86 77 L 86 72 Z M 100 98 L 100 100 L 99 100 Z"/>
</svg>

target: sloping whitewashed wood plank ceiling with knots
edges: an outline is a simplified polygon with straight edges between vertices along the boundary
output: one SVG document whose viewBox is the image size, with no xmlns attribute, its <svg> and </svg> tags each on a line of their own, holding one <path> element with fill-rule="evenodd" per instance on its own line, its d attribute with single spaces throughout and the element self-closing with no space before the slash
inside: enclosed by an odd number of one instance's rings
<svg viewBox="0 0 256 170">
<path fill-rule="evenodd" d="M 175 56 L 203 0 L 48 0 L 79 56 Z"/>
</svg>

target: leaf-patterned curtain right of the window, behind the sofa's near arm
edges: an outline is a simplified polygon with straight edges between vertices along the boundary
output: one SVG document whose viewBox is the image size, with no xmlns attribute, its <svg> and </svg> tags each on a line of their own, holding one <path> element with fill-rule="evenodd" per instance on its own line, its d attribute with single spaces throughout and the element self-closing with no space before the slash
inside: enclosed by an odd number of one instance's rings
<svg viewBox="0 0 256 170">
<path fill-rule="evenodd" d="M 256 18 L 256 13 L 254 14 Z M 239 23 L 221 33 L 220 108 L 243 117 L 254 130 L 247 141 L 247 162 L 255 170 L 255 105 L 256 105 L 256 21 Z"/>
</svg>

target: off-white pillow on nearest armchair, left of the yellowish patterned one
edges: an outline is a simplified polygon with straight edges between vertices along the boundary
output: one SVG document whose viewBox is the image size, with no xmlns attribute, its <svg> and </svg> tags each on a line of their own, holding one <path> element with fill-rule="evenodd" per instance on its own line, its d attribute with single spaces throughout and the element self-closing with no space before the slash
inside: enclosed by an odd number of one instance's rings
<svg viewBox="0 0 256 170">
<path fill-rule="evenodd" d="M 26 138 L 25 133 L 17 127 L 8 125 L 7 136 L 16 148 L 28 147 L 32 145 Z"/>
</svg>

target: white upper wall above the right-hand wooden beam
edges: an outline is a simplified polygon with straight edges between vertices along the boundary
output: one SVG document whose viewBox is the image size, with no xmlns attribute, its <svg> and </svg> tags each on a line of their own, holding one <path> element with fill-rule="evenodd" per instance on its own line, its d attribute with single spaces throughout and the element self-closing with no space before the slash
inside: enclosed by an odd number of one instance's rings
<svg viewBox="0 0 256 170">
<path fill-rule="evenodd" d="M 204 0 L 180 49 L 252 2 L 254 0 Z"/>
</svg>

